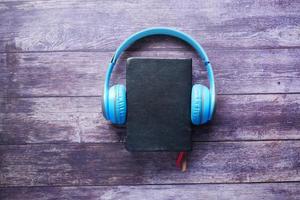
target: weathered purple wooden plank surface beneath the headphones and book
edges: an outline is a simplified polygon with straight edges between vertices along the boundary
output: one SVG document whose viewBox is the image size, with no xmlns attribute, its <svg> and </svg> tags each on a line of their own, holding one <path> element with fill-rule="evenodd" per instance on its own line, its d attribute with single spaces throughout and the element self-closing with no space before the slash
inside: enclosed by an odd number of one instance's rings
<svg viewBox="0 0 300 200">
<path fill-rule="evenodd" d="M 129 153 L 126 128 L 101 114 L 118 45 L 152 26 L 199 41 L 215 71 L 217 111 L 193 128 L 188 170 L 176 153 Z M 131 56 L 193 58 L 170 37 Z M 2 0 L 0 199 L 300 199 L 299 0 Z"/>
</svg>

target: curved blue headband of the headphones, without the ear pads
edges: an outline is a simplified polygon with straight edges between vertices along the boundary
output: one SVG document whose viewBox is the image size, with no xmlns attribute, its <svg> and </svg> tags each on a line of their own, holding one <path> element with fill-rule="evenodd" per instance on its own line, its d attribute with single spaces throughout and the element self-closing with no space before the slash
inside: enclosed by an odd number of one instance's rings
<svg viewBox="0 0 300 200">
<path fill-rule="evenodd" d="M 211 118 L 213 115 L 214 106 L 215 106 L 215 82 L 214 82 L 214 73 L 213 73 L 211 64 L 209 62 L 209 59 L 208 59 L 204 49 L 196 40 L 194 40 L 191 36 L 185 34 L 184 32 L 177 31 L 177 30 L 171 29 L 171 28 L 164 28 L 164 27 L 148 28 L 148 29 L 144 29 L 140 32 L 137 32 L 137 33 L 131 35 L 129 38 L 127 38 L 118 47 L 114 56 L 111 59 L 111 62 L 108 66 L 108 70 L 106 73 L 106 78 L 105 78 L 105 83 L 104 83 L 104 98 L 103 98 L 103 100 L 104 100 L 103 104 L 106 106 L 105 110 L 106 111 L 108 110 L 109 80 L 111 77 L 112 70 L 113 70 L 114 66 L 116 65 L 118 58 L 123 53 L 123 51 L 125 51 L 130 45 L 135 43 L 137 40 L 148 37 L 148 36 L 153 36 L 153 35 L 167 35 L 167 36 L 179 38 L 179 39 L 185 41 L 186 43 L 188 43 L 189 45 L 191 45 L 196 50 L 196 52 L 202 59 L 202 62 L 204 63 L 207 73 L 208 73 L 209 87 L 210 87 L 210 102 L 211 102 L 210 118 Z M 108 115 L 108 113 L 104 113 L 104 116 L 106 116 L 106 118 L 109 118 L 107 115 Z"/>
</svg>

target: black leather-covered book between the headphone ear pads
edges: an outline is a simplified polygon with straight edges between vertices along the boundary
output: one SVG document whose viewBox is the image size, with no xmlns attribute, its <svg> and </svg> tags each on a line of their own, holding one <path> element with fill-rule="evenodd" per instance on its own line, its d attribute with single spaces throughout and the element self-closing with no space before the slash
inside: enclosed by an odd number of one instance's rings
<svg viewBox="0 0 300 200">
<path fill-rule="evenodd" d="M 129 151 L 191 150 L 192 59 L 127 59 Z"/>
</svg>

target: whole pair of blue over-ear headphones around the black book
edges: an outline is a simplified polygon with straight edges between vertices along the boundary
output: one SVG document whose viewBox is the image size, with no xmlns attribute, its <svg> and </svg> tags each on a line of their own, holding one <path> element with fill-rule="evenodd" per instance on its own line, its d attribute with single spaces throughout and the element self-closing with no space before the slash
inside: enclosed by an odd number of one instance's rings
<svg viewBox="0 0 300 200">
<path fill-rule="evenodd" d="M 191 120 L 194 125 L 204 124 L 211 120 L 215 108 L 215 82 L 213 70 L 204 49 L 191 36 L 183 32 L 164 27 L 148 28 L 137 32 L 127 38 L 116 50 L 108 66 L 104 83 L 104 95 L 102 102 L 104 118 L 110 120 L 113 124 L 121 125 L 126 122 L 126 89 L 124 85 L 120 84 L 109 88 L 111 73 L 123 51 L 137 40 L 152 35 L 167 35 L 179 38 L 190 44 L 197 51 L 207 69 L 210 90 L 201 84 L 193 85 L 191 95 Z"/>
</svg>

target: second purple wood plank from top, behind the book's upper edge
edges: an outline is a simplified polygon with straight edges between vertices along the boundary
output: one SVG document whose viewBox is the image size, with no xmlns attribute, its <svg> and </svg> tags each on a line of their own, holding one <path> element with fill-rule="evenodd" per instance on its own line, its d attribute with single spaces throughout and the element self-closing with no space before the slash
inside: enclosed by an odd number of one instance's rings
<svg viewBox="0 0 300 200">
<path fill-rule="evenodd" d="M 300 92 L 299 49 L 209 50 L 219 94 Z M 96 96 L 102 94 L 112 52 L 0 54 L 0 96 Z M 125 82 L 128 57 L 193 58 L 194 82 L 206 72 L 191 49 L 131 51 L 122 57 L 112 82 Z"/>
</svg>

